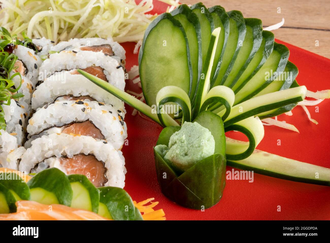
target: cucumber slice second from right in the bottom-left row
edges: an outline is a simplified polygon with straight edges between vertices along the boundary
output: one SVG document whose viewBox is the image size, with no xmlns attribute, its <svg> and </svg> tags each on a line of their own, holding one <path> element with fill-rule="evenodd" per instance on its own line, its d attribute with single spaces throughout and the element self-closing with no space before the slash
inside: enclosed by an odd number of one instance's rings
<svg viewBox="0 0 330 243">
<path fill-rule="evenodd" d="M 73 191 L 72 208 L 98 212 L 100 191 L 84 175 L 69 175 Z"/>
</svg>

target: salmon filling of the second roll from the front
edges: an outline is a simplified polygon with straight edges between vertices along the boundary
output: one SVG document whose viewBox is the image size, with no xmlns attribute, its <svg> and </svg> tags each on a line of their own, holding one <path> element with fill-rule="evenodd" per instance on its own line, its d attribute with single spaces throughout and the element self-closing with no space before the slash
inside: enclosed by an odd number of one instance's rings
<svg viewBox="0 0 330 243">
<path fill-rule="evenodd" d="M 90 136 L 94 139 L 104 139 L 101 131 L 95 127 L 91 121 L 85 121 L 80 123 L 73 123 L 67 126 L 62 133 L 66 134 L 80 134 L 83 136 Z"/>
</svg>

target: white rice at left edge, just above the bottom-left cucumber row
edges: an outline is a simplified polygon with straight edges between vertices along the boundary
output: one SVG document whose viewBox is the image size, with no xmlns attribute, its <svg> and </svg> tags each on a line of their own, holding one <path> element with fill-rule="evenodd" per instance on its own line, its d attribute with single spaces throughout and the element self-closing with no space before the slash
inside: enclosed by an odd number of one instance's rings
<svg viewBox="0 0 330 243">
<path fill-rule="evenodd" d="M 0 167 L 18 170 L 18 161 L 24 147 L 19 147 L 17 139 L 4 130 L 0 130 Z"/>
</svg>

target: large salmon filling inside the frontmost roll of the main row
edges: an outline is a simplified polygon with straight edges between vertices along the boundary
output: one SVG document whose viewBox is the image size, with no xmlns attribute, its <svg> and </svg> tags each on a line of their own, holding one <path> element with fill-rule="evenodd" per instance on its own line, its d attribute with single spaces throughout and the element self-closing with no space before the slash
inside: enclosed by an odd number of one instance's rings
<svg viewBox="0 0 330 243">
<path fill-rule="evenodd" d="M 104 163 L 97 160 L 94 155 L 76 154 L 72 158 L 59 158 L 61 166 L 67 175 L 81 174 L 86 176 L 96 187 L 104 186 L 108 181 Z"/>
</svg>

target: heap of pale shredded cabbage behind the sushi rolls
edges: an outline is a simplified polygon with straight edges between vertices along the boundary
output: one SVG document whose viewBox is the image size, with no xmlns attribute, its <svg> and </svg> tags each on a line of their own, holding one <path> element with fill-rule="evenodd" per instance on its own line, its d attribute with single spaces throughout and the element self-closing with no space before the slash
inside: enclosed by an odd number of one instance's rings
<svg viewBox="0 0 330 243">
<path fill-rule="evenodd" d="M 161 0 L 171 6 L 177 1 Z M 12 34 L 26 31 L 29 38 L 55 42 L 71 38 L 113 37 L 126 42 L 143 39 L 157 15 L 152 0 L 1 0 L 0 26 Z"/>
</svg>

